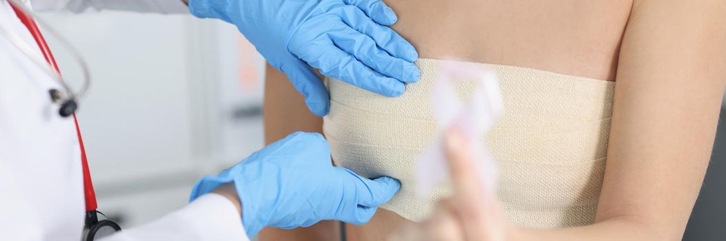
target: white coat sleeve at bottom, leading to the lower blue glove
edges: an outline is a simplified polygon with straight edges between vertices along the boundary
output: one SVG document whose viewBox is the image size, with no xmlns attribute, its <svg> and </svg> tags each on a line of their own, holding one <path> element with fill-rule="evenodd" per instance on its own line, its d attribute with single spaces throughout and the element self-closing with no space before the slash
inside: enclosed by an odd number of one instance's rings
<svg viewBox="0 0 726 241">
<path fill-rule="evenodd" d="M 210 193 L 157 221 L 123 229 L 103 241 L 234 240 L 249 241 L 239 211 L 229 199 Z"/>
</svg>

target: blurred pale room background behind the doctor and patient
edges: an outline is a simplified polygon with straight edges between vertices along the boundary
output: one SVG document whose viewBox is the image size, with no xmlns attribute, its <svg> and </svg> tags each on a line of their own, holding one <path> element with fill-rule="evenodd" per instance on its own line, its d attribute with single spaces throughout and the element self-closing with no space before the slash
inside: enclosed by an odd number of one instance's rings
<svg viewBox="0 0 726 241">
<path fill-rule="evenodd" d="M 91 68 L 78 119 L 99 210 L 123 227 L 181 208 L 197 179 L 262 147 L 264 60 L 234 26 L 129 12 L 41 17 Z M 79 80 L 78 64 L 46 38 L 64 76 Z M 726 240 L 721 128 L 684 240 Z"/>
</svg>

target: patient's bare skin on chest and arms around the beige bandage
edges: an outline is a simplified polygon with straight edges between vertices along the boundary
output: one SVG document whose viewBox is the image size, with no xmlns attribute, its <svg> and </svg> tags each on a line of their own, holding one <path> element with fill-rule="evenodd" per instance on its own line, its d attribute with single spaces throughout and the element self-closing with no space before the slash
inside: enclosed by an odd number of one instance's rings
<svg viewBox="0 0 726 241">
<path fill-rule="evenodd" d="M 386 3 L 399 14 L 393 28 L 421 57 L 532 67 L 618 83 L 596 223 L 513 229 L 512 239 L 680 240 L 708 165 L 726 80 L 726 2 Z M 268 72 L 267 85 L 290 85 L 274 69 Z M 287 135 L 290 126 L 320 130 L 319 118 L 303 114 L 302 98 L 291 87 L 268 86 L 266 95 L 276 96 L 266 98 L 266 111 L 294 115 L 267 115 L 269 137 Z M 385 240 L 408 222 L 380 210 L 368 224 L 348 225 L 348 240 Z M 304 240 L 299 237 L 305 234 L 337 240 L 335 230 L 322 224 L 266 232 L 261 240 Z"/>
</svg>

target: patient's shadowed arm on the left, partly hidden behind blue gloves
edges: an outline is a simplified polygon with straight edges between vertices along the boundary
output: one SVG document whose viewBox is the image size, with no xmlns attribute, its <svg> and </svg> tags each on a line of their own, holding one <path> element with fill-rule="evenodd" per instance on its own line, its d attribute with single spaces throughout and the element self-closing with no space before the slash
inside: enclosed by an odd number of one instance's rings
<svg viewBox="0 0 726 241">
<path fill-rule="evenodd" d="M 296 131 L 322 133 L 322 118 L 312 114 L 305 99 L 282 72 L 266 67 L 263 118 L 265 143 L 285 138 Z M 307 228 L 266 228 L 259 240 L 340 240 L 337 221 L 321 221 Z"/>
</svg>

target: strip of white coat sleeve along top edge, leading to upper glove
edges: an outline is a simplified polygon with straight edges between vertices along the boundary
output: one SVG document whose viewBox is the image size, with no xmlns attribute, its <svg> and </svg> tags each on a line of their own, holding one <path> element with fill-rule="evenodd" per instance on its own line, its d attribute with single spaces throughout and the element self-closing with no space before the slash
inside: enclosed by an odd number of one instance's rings
<svg viewBox="0 0 726 241">
<path fill-rule="evenodd" d="M 38 11 L 68 9 L 83 12 L 86 9 L 156 12 L 162 14 L 189 14 L 189 7 L 181 0 L 30 0 Z"/>
</svg>

